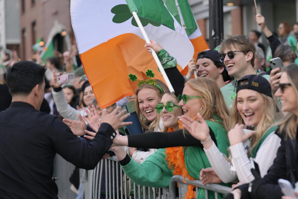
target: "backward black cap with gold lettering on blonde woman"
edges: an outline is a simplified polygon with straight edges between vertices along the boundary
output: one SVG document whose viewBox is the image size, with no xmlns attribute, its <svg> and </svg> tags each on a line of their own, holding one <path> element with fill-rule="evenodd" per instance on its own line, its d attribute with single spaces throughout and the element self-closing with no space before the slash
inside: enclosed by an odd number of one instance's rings
<svg viewBox="0 0 298 199">
<path fill-rule="evenodd" d="M 236 93 L 242 89 L 255 90 L 272 97 L 269 81 L 260 75 L 246 75 L 237 81 Z"/>
</svg>

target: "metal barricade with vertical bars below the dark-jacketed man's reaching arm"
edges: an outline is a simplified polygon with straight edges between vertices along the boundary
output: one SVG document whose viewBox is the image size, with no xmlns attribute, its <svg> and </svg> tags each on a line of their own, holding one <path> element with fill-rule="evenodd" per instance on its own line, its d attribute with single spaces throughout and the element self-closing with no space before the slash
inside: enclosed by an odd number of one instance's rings
<svg viewBox="0 0 298 199">
<path fill-rule="evenodd" d="M 82 190 L 85 193 L 85 199 L 161 199 L 162 188 L 145 187 L 133 183 L 124 174 L 116 156 L 99 161 L 95 169 L 89 170 L 88 174 L 92 177 L 88 179 L 88 185 L 85 184 Z M 129 195 L 131 185 L 132 196 Z M 88 186 L 91 188 L 91 194 L 86 194 L 90 190 Z M 142 192 L 139 191 L 141 188 Z M 168 192 L 168 189 L 164 190 Z"/>
</svg>

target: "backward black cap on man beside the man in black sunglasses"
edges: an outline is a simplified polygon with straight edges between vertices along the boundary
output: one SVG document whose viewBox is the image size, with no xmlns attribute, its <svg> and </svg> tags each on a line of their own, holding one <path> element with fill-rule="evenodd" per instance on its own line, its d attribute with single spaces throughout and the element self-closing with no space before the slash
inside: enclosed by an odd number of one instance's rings
<svg viewBox="0 0 298 199">
<path fill-rule="evenodd" d="M 224 81 L 231 80 L 231 76 L 229 76 L 228 71 L 224 65 L 224 63 L 219 58 L 219 52 L 213 49 L 204 50 L 200 53 L 198 53 L 198 56 L 196 57 L 196 61 L 201 58 L 208 58 L 211 59 L 214 64 L 216 64 L 217 67 L 224 67 L 224 71 L 221 73 L 223 75 Z"/>
</svg>

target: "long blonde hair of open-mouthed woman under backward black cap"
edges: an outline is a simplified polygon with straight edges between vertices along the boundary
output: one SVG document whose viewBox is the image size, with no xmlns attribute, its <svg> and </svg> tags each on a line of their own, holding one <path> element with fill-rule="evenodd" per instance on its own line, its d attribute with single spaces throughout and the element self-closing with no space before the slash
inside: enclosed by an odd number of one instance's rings
<svg viewBox="0 0 298 199">
<path fill-rule="evenodd" d="M 251 145 L 249 147 L 248 156 L 251 156 L 251 151 L 258 144 L 261 137 L 267 132 L 269 127 L 271 127 L 274 123 L 274 114 L 275 114 L 275 103 L 273 99 L 263 93 L 260 93 L 264 99 L 264 108 L 262 111 L 262 117 L 259 121 L 259 125 L 257 125 L 255 129 L 255 134 L 252 135 Z M 237 109 L 237 96 L 234 101 L 233 108 L 231 110 L 231 125 L 230 129 L 234 128 L 236 124 L 244 124 L 238 109 Z"/>
</svg>

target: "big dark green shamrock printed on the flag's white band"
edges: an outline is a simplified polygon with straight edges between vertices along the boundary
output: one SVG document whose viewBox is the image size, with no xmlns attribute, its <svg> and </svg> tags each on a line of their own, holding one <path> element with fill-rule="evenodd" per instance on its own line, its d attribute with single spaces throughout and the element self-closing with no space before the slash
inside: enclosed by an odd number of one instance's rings
<svg viewBox="0 0 298 199">
<path fill-rule="evenodd" d="M 120 5 L 114 6 L 111 9 L 111 12 L 115 14 L 112 21 L 114 23 L 118 23 L 118 24 L 129 20 L 133 16 L 133 14 L 129 11 L 129 7 L 128 7 L 127 4 L 120 4 Z M 139 16 L 139 19 L 140 19 L 143 26 L 146 26 L 149 23 L 154 25 L 154 26 L 160 26 L 160 23 L 157 23 L 157 22 L 152 21 L 150 19 L 145 19 L 145 18 L 142 18 L 140 16 Z M 137 24 L 137 22 L 134 18 L 132 18 L 131 24 L 138 27 L 138 24 Z"/>
</svg>

